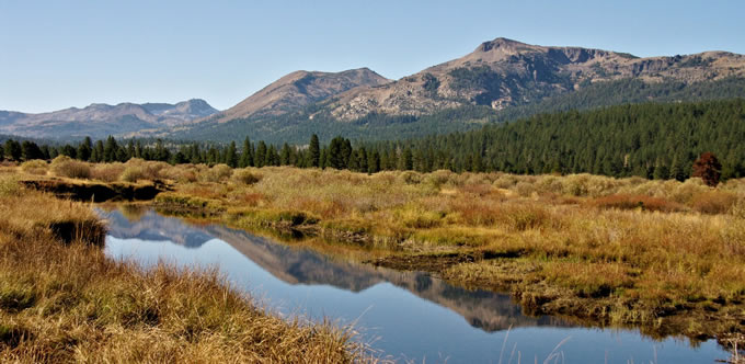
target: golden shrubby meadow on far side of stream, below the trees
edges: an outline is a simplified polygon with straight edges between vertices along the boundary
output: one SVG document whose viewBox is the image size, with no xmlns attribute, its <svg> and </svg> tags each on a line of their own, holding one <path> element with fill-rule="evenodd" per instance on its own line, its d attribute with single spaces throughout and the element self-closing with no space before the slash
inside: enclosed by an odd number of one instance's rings
<svg viewBox="0 0 745 364">
<path fill-rule="evenodd" d="M 70 167 L 62 163 L 74 163 Z M 79 170 L 84 170 L 82 173 Z M 535 314 L 694 340 L 745 332 L 745 180 L 577 175 L 373 175 L 130 160 L 13 170 L 103 182 L 162 180 L 159 208 L 473 288 Z"/>
</svg>

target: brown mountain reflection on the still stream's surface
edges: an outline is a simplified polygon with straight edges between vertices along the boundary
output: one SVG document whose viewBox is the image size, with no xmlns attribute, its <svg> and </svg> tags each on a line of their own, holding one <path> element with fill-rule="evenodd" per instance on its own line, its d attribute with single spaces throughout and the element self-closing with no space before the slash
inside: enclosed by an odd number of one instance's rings
<svg viewBox="0 0 745 364">
<path fill-rule="evenodd" d="M 335 260 L 312 250 L 283 246 L 247 231 L 217 225 L 188 226 L 177 218 L 164 217 L 152 211 L 144 212 L 142 216 L 134 220 L 117 212 L 107 213 L 106 218 L 108 235 L 123 240 L 170 241 L 196 249 L 209 240 L 220 239 L 289 284 L 331 285 L 360 292 L 389 282 L 458 312 L 471 326 L 489 332 L 509 327 L 569 326 L 552 317 L 524 316 L 506 294 L 456 287 L 421 272 L 398 272 Z"/>
</svg>

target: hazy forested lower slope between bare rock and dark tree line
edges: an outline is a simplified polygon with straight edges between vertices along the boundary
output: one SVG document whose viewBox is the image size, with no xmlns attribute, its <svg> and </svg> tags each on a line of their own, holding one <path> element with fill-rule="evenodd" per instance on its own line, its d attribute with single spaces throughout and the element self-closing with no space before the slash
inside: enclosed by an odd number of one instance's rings
<svg viewBox="0 0 745 364">
<path fill-rule="evenodd" d="M 267 143 L 303 144 L 317 134 L 322 141 L 334 136 L 353 140 L 396 140 L 417 138 L 433 134 L 447 134 L 479 129 L 486 124 L 512 122 L 540 113 L 569 110 L 593 110 L 628 103 L 671 103 L 731 99 L 743 94 L 745 79 L 726 78 L 686 84 L 667 80 L 646 83 L 638 79 L 603 81 L 562 95 L 543 99 L 538 103 L 511 106 L 495 111 L 484 105 L 459 106 L 432 114 L 387 115 L 370 113 L 357 120 L 341 123 L 319 105 L 279 116 L 234 120 L 224 124 L 202 123 L 192 128 L 174 132 L 163 137 L 182 140 L 230 141 L 236 136 L 251 135 Z M 250 127 L 249 127 L 250 125 Z"/>
</svg>

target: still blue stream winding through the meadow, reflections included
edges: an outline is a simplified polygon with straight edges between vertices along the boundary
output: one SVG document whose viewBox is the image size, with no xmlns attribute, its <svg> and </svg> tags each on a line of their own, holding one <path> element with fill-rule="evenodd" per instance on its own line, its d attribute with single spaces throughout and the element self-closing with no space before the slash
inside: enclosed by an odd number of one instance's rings
<svg viewBox="0 0 745 364">
<path fill-rule="evenodd" d="M 397 360 L 427 363 L 713 363 L 714 341 L 654 341 L 633 330 L 573 327 L 528 317 L 507 295 L 472 292 L 417 272 L 332 259 L 222 226 L 193 226 L 152 211 L 110 221 L 106 253 L 150 266 L 217 266 L 279 315 L 355 323 Z"/>
</svg>

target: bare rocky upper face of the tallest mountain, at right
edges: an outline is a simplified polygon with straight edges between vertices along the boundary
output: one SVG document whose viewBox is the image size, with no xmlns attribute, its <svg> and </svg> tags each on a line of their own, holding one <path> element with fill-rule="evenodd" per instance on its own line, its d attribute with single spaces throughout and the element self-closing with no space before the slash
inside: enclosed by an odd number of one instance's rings
<svg viewBox="0 0 745 364">
<path fill-rule="evenodd" d="M 638 58 L 580 47 L 543 47 L 496 38 L 465 57 L 379 88 L 353 89 L 329 103 L 353 121 L 369 113 L 421 115 L 467 104 L 501 110 L 578 90 L 587 82 L 639 78 L 698 82 L 745 77 L 745 57 L 724 52 Z"/>
</svg>

